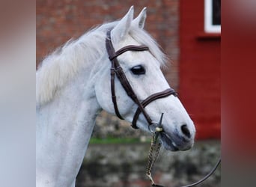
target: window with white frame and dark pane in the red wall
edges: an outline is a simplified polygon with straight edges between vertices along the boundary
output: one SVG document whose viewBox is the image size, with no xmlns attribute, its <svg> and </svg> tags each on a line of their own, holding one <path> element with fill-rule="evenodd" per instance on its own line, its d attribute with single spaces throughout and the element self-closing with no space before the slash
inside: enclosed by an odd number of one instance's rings
<svg viewBox="0 0 256 187">
<path fill-rule="evenodd" d="M 221 32 L 221 0 L 204 0 L 204 31 Z"/>
</svg>

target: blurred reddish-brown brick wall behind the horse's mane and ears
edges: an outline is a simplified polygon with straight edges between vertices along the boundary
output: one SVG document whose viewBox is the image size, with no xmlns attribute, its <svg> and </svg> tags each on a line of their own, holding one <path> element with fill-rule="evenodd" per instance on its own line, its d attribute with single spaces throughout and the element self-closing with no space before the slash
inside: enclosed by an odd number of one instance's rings
<svg viewBox="0 0 256 187">
<path fill-rule="evenodd" d="M 147 7 L 145 29 L 153 35 L 169 56 L 171 70 L 165 76 L 178 86 L 178 0 L 37 0 L 37 64 L 71 37 L 79 37 L 89 28 L 120 19 L 134 5 L 135 16 Z"/>
</svg>

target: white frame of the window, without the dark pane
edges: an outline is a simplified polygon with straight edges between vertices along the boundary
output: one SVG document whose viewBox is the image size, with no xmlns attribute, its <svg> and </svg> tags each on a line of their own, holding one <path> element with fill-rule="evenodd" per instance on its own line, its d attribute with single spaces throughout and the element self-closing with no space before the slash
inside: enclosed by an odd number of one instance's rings
<svg viewBox="0 0 256 187">
<path fill-rule="evenodd" d="M 204 31 L 220 33 L 221 25 L 213 25 L 213 0 L 204 0 Z"/>
</svg>

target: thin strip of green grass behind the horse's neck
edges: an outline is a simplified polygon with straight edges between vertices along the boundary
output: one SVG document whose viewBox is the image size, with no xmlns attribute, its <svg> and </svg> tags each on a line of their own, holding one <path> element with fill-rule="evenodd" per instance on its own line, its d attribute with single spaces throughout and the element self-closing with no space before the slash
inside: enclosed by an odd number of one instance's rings
<svg viewBox="0 0 256 187">
<path fill-rule="evenodd" d="M 135 144 L 140 143 L 139 138 L 91 138 L 90 144 Z"/>
</svg>

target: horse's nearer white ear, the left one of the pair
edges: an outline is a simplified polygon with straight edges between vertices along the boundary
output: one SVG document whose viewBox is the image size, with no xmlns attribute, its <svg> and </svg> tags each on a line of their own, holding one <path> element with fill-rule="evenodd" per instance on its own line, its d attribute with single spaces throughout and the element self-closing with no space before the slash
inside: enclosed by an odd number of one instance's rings
<svg viewBox="0 0 256 187">
<path fill-rule="evenodd" d="M 129 32 L 133 19 L 133 6 L 129 8 L 127 14 L 118 22 L 118 25 L 112 29 L 112 39 L 114 42 L 120 41 Z"/>
</svg>

